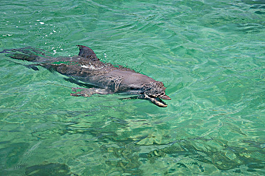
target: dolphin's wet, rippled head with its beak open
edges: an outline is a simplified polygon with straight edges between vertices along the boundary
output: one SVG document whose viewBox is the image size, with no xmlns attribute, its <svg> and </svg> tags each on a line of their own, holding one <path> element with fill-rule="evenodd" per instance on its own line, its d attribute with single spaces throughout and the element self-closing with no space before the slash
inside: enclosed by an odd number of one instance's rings
<svg viewBox="0 0 265 176">
<path fill-rule="evenodd" d="M 151 101 L 153 104 L 159 107 L 167 107 L 168 105 L 163 102 L 161 99 L 164 100 L 171 100 L 169 96 L 166 95 L 166 87 L 164 86 L 163 82 L 155 81 L 148 84 L 144 84 L 142 86 L 144 92 L 144 98 Z"/>
</svg>

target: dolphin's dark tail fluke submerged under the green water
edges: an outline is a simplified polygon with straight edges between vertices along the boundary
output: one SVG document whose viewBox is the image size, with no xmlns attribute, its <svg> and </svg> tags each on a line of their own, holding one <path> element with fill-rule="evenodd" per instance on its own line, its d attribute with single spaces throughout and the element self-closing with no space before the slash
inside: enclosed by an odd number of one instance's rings
<svg viewBox="0 0 265 176">
<path fill-rule="evenodd" d="M 6 53 L 6 56 L 13 59 L 27 60 L 30 62 L 45 63 L 46 61 L 50 61 L 50 57 L 46 56 L 44 52 L 33 48 L 5 49 L 0 53 Z"/>
</svg>

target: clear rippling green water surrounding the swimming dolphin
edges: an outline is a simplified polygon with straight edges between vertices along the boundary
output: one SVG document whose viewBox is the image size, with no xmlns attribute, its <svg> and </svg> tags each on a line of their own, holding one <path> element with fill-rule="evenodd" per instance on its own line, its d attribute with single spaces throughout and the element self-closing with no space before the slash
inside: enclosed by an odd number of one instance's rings
<svg viewBox="0 0 265 176">
<path fill-rule="evenodd" d="M 264 1 L 1 1 L 0 49 L 91 47 L 167 108 L 0 55 L 0 175 L 264 175 Z M 26 62 L 19 62 L 26 63 Z"/>
</svg>

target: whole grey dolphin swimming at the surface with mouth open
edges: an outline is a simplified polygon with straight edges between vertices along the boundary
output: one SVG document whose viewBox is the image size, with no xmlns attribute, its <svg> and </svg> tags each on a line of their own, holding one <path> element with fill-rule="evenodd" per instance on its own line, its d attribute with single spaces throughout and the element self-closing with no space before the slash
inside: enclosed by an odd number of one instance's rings
<svg viewBox="0 0 265 176">
<path fill-rule="evenodd" d="M 0 53 L 13 59 L 34 62 L 25 65 L 34 70 L 42 66 L 51 71 L 66 75 L 69 80 L 86 82 L 93 87 L 72 87 L 71 96 L 90 97 L 94 94 L 107 95 L 126 93 L 136 95 L 136 99 L 149 100 L 158 107 L 167 107 L 164 100 L 171 100 L 165 94 L 166 87 L 163 82 L 156 81 L 144 74 L 123 67 L 99 61 L 92 49 L 83 45 L 79 47 L 79 54 L 75 57 L 48 57 L 45 52 L 33 48 L 6 49 Z"/>
</svg>

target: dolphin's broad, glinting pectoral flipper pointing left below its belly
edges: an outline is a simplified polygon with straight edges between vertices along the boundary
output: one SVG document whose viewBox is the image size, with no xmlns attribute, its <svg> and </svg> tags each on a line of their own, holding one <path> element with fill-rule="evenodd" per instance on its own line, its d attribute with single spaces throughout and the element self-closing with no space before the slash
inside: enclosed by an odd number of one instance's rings
<svg viewBox="0 0 265 176">
<path fill-rule="evenodd" d="M 77 92 L 78 90 L 81 90 L 80 92 Z M 80 88 L 80 87 L 72 87 L 72 91 L 76 93 L 70 94 L 71 96 L 74 97 L 91 97 L 94 94 L 100 94 L 100 95 L 107 95 L 107 94 L 113 94 L 113 92 L 107 91 L 105 89 L 99 89 L 99 88 Z"/>
</svg>

